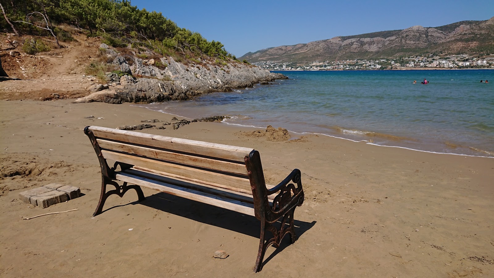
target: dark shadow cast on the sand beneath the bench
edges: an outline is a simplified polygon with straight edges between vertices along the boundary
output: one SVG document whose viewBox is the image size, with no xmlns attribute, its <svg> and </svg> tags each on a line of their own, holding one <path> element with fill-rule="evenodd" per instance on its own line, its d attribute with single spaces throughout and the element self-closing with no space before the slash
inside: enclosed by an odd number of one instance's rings
<svg viewBox="0 0 494 278">
<path fill-rule="evenodd" d="M 201 202 L 173 196 L 164 192 L 159 192 L 147 196 L 146 199 L 141 202 L 135 201 L 120 206 L 126 205 L 145 205 L 157 210 L 161 210 L 163 212 L 185 217 L 197 222 L 220 227 L 230 231 L 240 232 L 256 238 L 259 238 L 260 234 L 260 222 L 253 216 L 242 216 L 241 213 L 235 211 L 230 211 Z M 115 209 L 120 206 L 110 207 L 104 210 L 103 213 L 107 210 Z M 297 207 L 295 209 L 295 219 L 293 221 L 297 238 L 301 237 L 305 232 L 314 227 L 314 225 L 317 223 L 316 221 L 304 222 L 297 220 L 298 210 L 300 210 L 300 208 Z M 271 232 L 266 232 L 266 238 L 270 236 L 272 236 Z M 268 249 L 263 265 L 268 263 L 274 256 L 276 256 L 276 254 L 282 252 L 289 245 L 289 235 L 285 235 L 282 242 L 280 243 L 280 247 L 276 248 L 276 250 L 269 256 L 269 250 L 272 250 L 273 248 Z"/>
</svg>

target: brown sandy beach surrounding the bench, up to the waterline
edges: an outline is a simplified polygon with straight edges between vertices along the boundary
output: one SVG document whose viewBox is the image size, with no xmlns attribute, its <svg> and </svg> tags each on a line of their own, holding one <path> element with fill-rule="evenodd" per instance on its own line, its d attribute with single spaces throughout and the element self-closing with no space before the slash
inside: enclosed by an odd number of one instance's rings
<svg viewBox="0 0 494 278">
<path fill-rule="evenodd" d="M 91 218 L 100 172 L 82 129 L 172 115 L 71 100 L 0 101 L 0 111 L 0 173 L 17 174 L 0 180 L 1 277 L 494 277 L 492 158 L 315 135 L 273 142 L 221 123 L 144 130 L 253 147 L 271 184 L 293 168 L 302 171 L 299 238 L 270 247 L 254 274 L 253 217 L 144 188 L 145 201 L 135 202 L 133 191 L 112 196 Z M 85 195 L 47 209 L 18 199 L 27 188 L 55 182 Z M 219 249 L 230 256 L 214 259 Z"/>
</svg>

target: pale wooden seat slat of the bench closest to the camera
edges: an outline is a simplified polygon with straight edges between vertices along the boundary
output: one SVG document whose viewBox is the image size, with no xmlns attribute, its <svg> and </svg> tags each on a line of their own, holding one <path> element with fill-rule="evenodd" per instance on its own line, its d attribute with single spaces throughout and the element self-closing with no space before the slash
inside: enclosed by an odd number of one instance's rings
<svg viewBox="0 0 494 278">
<path fill-rule="evenodd" d="M 170 185 L 163 182 L 153 181 L 146 178 L 136 177 L 126 173 L 117 174 L 115 175 L 115 177 L 120 181 L 127 182 L 133 185 L 139 185 L 139 186 L 151 188 L 171 195 L 184 197 L 190 200 L 202 202 L 216 207 L 225 208 L 228 210 L 255 216 L 254 206 L 249 203 L 223 198 L 220 196 L 204 193 L 201 191 L 184 188 L 176 185 Z"/>
</svg>

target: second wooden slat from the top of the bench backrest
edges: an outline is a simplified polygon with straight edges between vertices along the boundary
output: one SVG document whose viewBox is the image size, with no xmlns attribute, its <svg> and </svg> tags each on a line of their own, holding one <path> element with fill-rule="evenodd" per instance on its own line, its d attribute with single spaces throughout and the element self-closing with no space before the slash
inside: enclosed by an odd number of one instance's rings
<svg viewBox="0 0 494 278">
<path fill-rule="evenodd" d="M 208 169 L 247 175 L 247 168 L 245 163 L 240 164 L 240 163 L 233 163 L 228 161 L 221 161 L 221 160 L 205 158 L 200 156 L 193 156 L 193 155 L 169 152 L 169 151 L 158 150 L 148 147 L 129 145 L 125 143 L 108 141 L 103 139 L 97 139 L 96 141 L 98 142 L 99 146 L 104 149 L 117 150 L 130 154 L 144 155 L 148 157 L 178 162 L 182 164 L 194 165 Z"/>
</svg>

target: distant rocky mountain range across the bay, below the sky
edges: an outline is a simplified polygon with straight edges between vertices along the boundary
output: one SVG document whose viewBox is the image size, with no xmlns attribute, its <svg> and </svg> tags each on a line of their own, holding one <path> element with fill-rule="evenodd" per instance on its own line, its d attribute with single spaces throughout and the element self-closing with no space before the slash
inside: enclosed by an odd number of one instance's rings
<svg viewBox="0 0 494 278">
<path fill-rule="evenodd" d="M 482 21 L 460 21 L 439 27 L 413 26 L 329 40 L 276 46 L 248 52 L 240 60 L 254 63 L 306 64 L 342 59 L 394 58 L 419 54 L 494 53 L 494 17 Z"/>
</svg>

